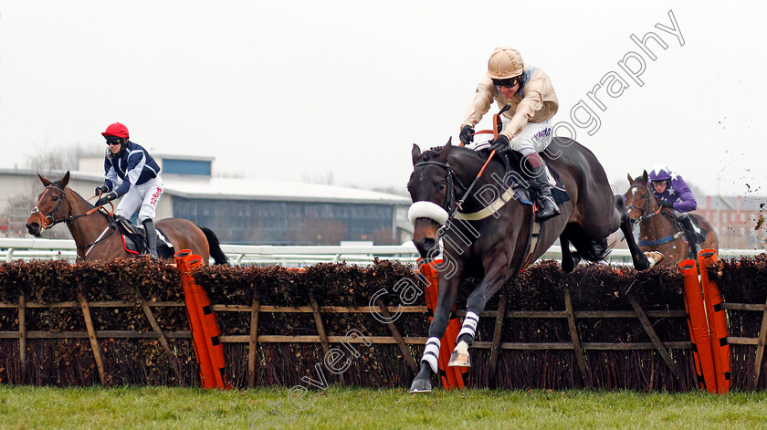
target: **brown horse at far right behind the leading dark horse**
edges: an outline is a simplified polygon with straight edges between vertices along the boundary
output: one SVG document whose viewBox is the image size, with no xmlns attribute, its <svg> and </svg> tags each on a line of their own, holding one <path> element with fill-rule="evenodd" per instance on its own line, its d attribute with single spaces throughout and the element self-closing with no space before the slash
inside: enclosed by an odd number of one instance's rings
<svg viewBox="0 0 767 430">
<path fill-rule="evenodd" d="M 625 206 L 631 218 L 632 227 L 639 225 L 639 247 L 643 251 L 657 251 L 663 254 L 666 264 L 676 264 L 691 257 L 697 259 L 684 231 L 677 225 L 669 210 L 661 210 L 655 195 L 650 190 L 649 178 L 645 171 L 642 176 L 632 179 L 628 175 L 628 190 L 626 190 Z M 700 243 L 701 249 L 719 250 L 719 236 L 706 218 L 690 214 L 703 230 L 706 230 L 706 240 Z"/>
</svg>

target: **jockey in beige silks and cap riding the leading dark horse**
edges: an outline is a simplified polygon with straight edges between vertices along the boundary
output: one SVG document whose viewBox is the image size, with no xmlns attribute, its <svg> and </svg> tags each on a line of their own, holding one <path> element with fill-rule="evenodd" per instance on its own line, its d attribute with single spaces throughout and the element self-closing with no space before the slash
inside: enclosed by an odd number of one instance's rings
<svg viewBox="0 0 767 430">
<path fill-rule="evenodd" d="M 538 221 L 559 215 L 545 163 L 538 154 L 552 142 L 552 117 L 559 110 L 552 80 L 541 68 L 526 64 L 517 50 L 496 47 L 488 60 L 488 73 L 479 81 L 477 94 L 461 123 L 461 142 L 468 145 L 474 141 L 474 126 L 488 113 L 493 101 L 499 108 L 510 105 L 510 110 L 501 115 L 503 130 L 490 142 L 490 148 L 522 154 L 521 173 L 528 176 L 529 187 L 541 203 Z"/>
</svg>

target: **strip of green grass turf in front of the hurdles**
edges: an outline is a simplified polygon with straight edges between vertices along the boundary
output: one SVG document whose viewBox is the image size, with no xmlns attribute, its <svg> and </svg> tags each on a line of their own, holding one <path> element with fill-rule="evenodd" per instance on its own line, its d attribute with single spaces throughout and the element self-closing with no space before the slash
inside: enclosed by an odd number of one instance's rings
<svg viewBox="0 0 767 430">
<path fill-rule="evenodd" d="M 765 423 L 765 392 L 437 390 L 414 395 L 340 387 L 221 392 L 0 386 L 2 428 L 751 429 Z"/>
</svg>

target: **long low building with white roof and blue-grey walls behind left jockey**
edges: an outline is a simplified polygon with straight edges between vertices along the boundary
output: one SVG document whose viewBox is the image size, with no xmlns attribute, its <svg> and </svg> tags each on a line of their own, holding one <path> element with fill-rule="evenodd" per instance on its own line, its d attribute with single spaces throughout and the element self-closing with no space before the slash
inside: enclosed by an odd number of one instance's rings
<svg viewBox="0 0 767 430">
<path fill-rule="evenodd" d="M 211 176 L 213 157 L 159 154 L 165 193 L 157 219 L 185 218 L 222 243 L 399 245 L 410 239 L 410 199 L 351 187 Z M 103 183 L 103 157 L 82 158 L 70 187 L 85 198 Z M 27 236 L 24 223 L 43 190 L 37 172 L 0 170 L 0 236 Z M 57 180 L 64 173 L 44 173 Z M 94 199 L 95 200 L 95 199 Z M 52 230 L 68 234 L 66 226 Z"/>
</svg>

